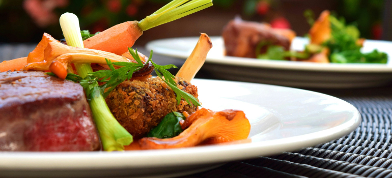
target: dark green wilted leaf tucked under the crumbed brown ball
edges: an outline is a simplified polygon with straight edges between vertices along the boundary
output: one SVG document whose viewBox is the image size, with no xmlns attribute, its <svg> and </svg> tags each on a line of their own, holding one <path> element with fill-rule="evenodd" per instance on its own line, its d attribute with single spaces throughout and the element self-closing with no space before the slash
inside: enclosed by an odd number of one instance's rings
<svg viewBox="0 0 392 178">
<path fill-rule="evenodd" d="M 185 120 L 185 116 L 179 112 L 166 114 L 158 126 L 151 129 L 147 137 L 173 138 L 183 131 L 179 123 L 182 120 Z"/>
</svg>

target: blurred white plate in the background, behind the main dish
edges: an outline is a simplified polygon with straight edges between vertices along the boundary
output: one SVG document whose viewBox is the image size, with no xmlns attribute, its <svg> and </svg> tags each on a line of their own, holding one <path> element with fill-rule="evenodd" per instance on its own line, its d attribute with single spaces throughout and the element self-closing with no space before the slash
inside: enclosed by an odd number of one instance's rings
<svg viewBox="0 0 392 178">
<path fill-rule="evenodd" d="M 199 37 L 162 39 L 149 42 L 148 50 L 156 54 L 186 59 Z M 215 78 L 277 84 L 294 87 L 366 87 L 392 81 L 392 66 L 388 64 L 316 64 L 295 61 L 258 60 L 223 55 L 225 45 L 221 37 L 212 37 L 214 47 L 207 55 L 202 69 Z M 293 40 L 292 49 L 303 50 L 305 38 Z M 392 56 L 392 42 L 366 40 L 362 52 L 373 49 Z"/>
</svg>

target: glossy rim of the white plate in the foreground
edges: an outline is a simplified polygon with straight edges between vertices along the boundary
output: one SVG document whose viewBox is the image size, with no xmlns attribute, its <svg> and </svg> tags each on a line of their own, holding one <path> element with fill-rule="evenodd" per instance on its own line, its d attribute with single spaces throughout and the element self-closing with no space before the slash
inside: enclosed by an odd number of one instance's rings
<svg viewBox="0 0 392 178">
<path fill-rule="evenodd" d="M 223 81 L 223 82 L 237 82 L 237 81 L 224 81 L 224 80 L 210 80 L 210 79 L 197 79 L 200 81 Z M 248 83 L 248 82 L 238 82 Z M 285 87 L 276 86 L 269 84 L 251 83 L 255 85 L 264 85 L 265 87 Z M 207 163 L 221 163 L 227 161 L 234 161 L 239 159 L 255 158 L 259 155 L 268 156 L 271 154 L 280 153 L 283 151 L 290 152 L 301 147 L 314 146 L 315 144 L 323 143 L 333 139 L 340 138 L 353 130 L 355 130 L 360 122 L 361 116 L 359 111 L 350 103 L 341 100 L 339 98 L 321 94 L 313 91 L 301 90 L 298 88 L 290 88 L 290 90 L 298 90 L 306 93 L 311 93 L 318 96 L 327 98 L 333 98 L 342 104 L 347 104 L 348 107 L 354 109 L 355 112 L 349 121 L 340 124 L 338 126 L 309 133 L 302 134 L 294 137 L 280 138 L 273 140 L 265 140 L 254 143 L 243 143 L 243 144 L 232 144 L 232 145 L 209 145 L 200 147 L 189 147 L 182 149 L 171 149 L 171 150 L 148 150 L 148 151 L 125 151 L 125 152 L 82 152 L 82 153 L 63 153 L 63 152 L 0 152 L 0 171 L 2 169 L 7 170 L 24 170 L 24 169 L 97 169 L 97 168 L 138 168 L 138 167 L 160 167 L 162 166 L 162 160 L 174 160 L 167 162 L 165 166 L 175 165 L 200 165 Z M 299 140 L 299 141 L 298 141 Z M 284 145 L 282 146 L 282 142 Z M 295 145 L 296 144 L 296 145 Z M 293 146 L 295 145 L 295 146 Z M 276 148 L 276 146 L 279 146 Z M 260 153 L 261 148 L 264 150 L 270 150 L 268 152 Z M 268 149 L 269 148 L 269 149 Z M 271 151 L 271 148 L 274 150 Z M 241 154 L 235 154 L 238 150 L 241 150 Z M 259 151 L 259 152 L 258 152 Z M 204 154 L 204 157 L 198 156 L 198 154 Z M 211 157 L 207 157 L 207 155 Z M 162 156 L 163 155 L 163 156 Z M 190 156 L 189 156 L 190 155 Z M 214 155 L 214 156 L 212 156 Z M 230 157 L 227 157 L 230 155 Z M 154 160 L 157 156 L 161 161 L 158 162 L 144 162 L 135 163 L 135 160 Z M 184 156 L 187 156 L 188 160 L 182 160 Z M 61 164 L 53 164 L 58 159 L 62 159 Z M 11 161 L 11 164 L 10 162 Z M 105 164 L 100 162 L 104 161 Z M 21 163 L 22 162 L 22 163 Z M 33 164 L 41 163 L 41 164 Z"/>
</svg>

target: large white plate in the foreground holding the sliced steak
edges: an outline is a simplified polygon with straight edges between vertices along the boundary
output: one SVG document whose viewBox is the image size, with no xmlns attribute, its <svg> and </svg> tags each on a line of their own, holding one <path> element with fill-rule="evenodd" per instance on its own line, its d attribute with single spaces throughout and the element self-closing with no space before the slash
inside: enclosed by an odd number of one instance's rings
<svg viewBox="0 0 392 178">
<path fill-rule="evenodd" d="M 269 156 L 340 138 L 360 123 L 351 104 L 328 95 L 256 83 L 195 79 L 203 107 L 243 110 L 249 139 L 237 144 L 173 150 L 0 152 L 0 176 L 175 176 L 224 162 Z"/>
</svg>

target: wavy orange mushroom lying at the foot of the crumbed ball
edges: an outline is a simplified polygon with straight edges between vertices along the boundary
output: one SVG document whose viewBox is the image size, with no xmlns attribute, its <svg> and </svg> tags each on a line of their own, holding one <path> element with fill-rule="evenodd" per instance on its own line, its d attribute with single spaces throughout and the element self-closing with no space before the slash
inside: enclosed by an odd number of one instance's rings
<svg viewBox="0 0 392 178">
<path fill-rule="evenodd" d="M 201 108 L 187 117 L 182 127 L 188 128 L 176 137 L 145 137 L 126 146 L 125 150 L 173 149 L 201 143 L 229 142 L 246 139 L 250 132 L 250 123 L 244 112 L 239 110 L 213 112 Z"/>
</svg>

